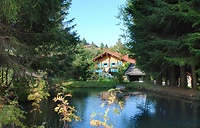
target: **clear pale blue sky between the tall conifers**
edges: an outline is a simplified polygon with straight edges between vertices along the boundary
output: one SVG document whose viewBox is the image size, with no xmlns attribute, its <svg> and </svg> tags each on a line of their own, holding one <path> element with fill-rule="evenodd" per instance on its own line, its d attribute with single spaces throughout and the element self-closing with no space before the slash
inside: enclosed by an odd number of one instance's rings
<svg viewBox="0 0 200 128">
<path fill-rule="evenodd" d="M 94 42 L 97 46 L 100 43 L 114 46 L 119 38 L 123 43 L 123 34 L 116 16 L 119 7 L 125 4 L 126 0 L 72 0 L 68 18 L 75 18 L 72 24 L 76 24 L 80 39 L 85 38 L 88 43 Z"/>
</svg>

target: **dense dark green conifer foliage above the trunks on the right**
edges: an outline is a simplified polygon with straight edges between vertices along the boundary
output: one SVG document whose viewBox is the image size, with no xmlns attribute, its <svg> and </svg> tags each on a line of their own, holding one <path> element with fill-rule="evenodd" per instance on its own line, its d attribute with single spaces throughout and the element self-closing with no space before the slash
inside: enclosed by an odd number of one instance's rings
<svg viewBox="0 0 200 128">
<path fill-rule="evenodd" d="M 196 0 L 127 0 L 119 18 L 140 69 L 161 76 L 175 65 L 199 68 L 199 5 Z"/>
</svg>

